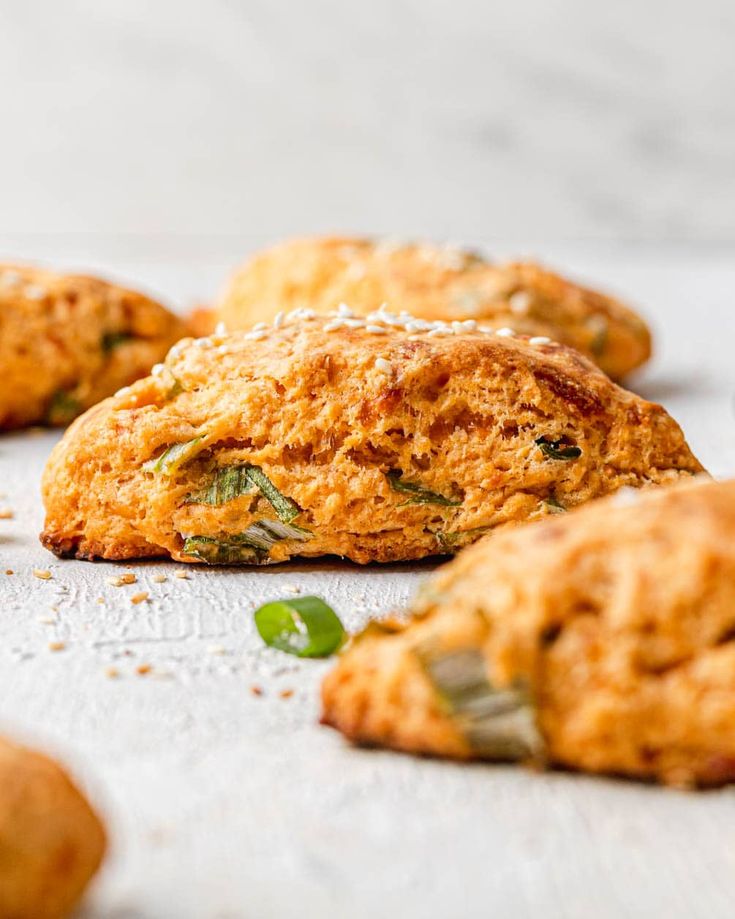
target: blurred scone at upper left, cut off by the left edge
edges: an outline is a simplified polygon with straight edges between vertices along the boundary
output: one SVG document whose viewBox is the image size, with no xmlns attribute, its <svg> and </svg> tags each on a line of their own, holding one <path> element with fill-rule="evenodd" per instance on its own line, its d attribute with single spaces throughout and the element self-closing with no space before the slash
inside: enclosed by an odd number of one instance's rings
<svg viewBox="0 0 735 919">
<path fill-rule="evenodd" d="M 142 294 L 97 278 L 0 264 L 0 430 L 68 424 L 150 372 L 186 333 Z"/>
</svg>

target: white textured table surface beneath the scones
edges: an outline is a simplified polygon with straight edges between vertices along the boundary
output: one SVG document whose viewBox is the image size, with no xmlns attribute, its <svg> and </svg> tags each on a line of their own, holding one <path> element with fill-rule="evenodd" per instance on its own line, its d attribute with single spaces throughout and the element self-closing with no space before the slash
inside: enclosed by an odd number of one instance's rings
<svg viewBox="0 0 735 919">
<path fill-rule="evenodd" d="M 714 474 L 735 472 L 735 262 L 546 251 L 642 305 L 657 356 L 632 385 L 668 407 Z M 223 260 L 113 247 L 93 261 L 187 303 L 219 283 Z M 329 664 L 265 649 L 254 607 L 295 588 L 354 629 L 404 603 L 430 565 L 178 580 L 181 566 L 58 561 L 36 538 L 57 436 L 0 438 L 0 507 L 15 512 L 0 521 L 0 726 L 61 755 L 106 816 L 112 847 L 86 919 L 732 915 L 733 791 L 412 759 L 319 727 Z M 106 583 L 128 568 L 136 585 Z M 134 606 L 139 590 L 151 601 Z"/>
</svg>

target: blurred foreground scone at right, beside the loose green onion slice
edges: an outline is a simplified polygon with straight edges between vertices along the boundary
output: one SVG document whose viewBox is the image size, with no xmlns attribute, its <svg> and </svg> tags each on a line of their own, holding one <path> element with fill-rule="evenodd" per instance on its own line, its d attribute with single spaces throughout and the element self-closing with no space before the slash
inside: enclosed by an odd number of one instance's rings
<svg viewBox="0 0 735 919">
<path fill-rule="evenodd" d="M 483 539 L 414 612 L 369 627 L 323 684 L 323 720 L 352 740 L 735 780 L 735 481 L 621 494 Z"/>
</svg>

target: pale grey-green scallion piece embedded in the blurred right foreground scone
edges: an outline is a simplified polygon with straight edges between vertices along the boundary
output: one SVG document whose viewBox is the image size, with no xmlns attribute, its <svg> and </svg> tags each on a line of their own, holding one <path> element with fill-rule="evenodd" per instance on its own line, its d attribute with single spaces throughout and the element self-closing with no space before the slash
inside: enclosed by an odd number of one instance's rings
<svg viewBox="0 0 735 919">
<path fill-rule="evenodd" d="M 501 760 L 539 758 L 544 741 L 528 688 L 496 689 L 485 659 L 474 648 L 441 653 L 418 651 L 419 659 L 473 751 Z"/>
</svg>

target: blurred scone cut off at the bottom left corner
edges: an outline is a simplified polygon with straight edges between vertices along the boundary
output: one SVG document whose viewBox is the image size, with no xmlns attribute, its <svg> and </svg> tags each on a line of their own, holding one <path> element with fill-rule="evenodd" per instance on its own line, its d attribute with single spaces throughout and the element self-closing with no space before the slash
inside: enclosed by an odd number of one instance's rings
<svg viewBox="0 0 735 919">
<path fill-rule="evenodd" d="M 66 772 L 0 738 L 0 916 L 68 916 L 102 862 L 105 831 Z"/>
</svg>

